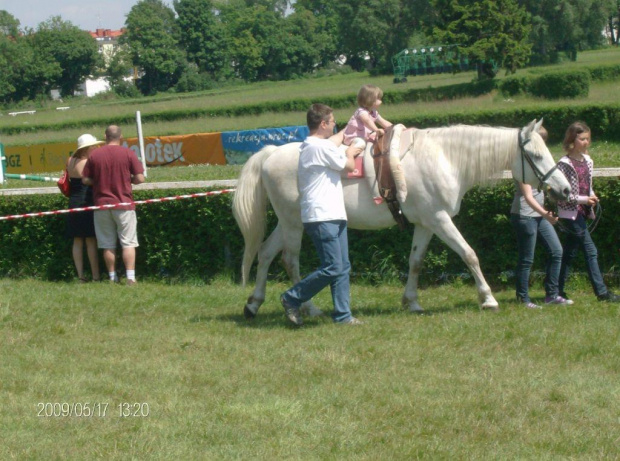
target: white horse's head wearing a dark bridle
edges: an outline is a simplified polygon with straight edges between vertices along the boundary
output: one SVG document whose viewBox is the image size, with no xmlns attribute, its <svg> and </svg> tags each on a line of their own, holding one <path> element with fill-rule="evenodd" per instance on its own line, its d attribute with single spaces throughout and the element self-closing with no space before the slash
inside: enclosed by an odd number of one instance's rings
<svg viewBox="0 0 620 461">
<path fill-rule="evenodd" d="M 513 178 L 544 190 L 556 200 L 566 200 L 570 184 L 557 169 L 545 141 L 540 136 L 542 119 L 533 120 L 519 131 L 519 155 L 512 163 Z"/>
</svg>

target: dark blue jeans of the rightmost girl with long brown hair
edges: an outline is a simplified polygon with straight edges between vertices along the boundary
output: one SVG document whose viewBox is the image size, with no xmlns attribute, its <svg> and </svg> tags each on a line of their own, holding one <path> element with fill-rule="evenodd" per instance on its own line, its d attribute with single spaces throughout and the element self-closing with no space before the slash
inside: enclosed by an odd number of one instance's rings
<svg viewBox="0 0 620 461">
<path fill-rule="evenodd" d="M 583 250 L 586 257 L 586 269 L 590 283 L 596 296 L 607 294 L 607 286 L 603 281 L 603 275 L 598 267 L 598 251 L 592 241 L 590 232 L 586 225 L 586 219 L 578 214 L 577 219 L 562 219 L 562 224 L 566 228 L 566 240 L 564 242 L 564 257 L 562 258 L 562 268 L 560 269 L 560 292 L 564 292 L 564 284 L 570 273 L 570 267 L 577 256 L 579 250 Z"/>
</svg>

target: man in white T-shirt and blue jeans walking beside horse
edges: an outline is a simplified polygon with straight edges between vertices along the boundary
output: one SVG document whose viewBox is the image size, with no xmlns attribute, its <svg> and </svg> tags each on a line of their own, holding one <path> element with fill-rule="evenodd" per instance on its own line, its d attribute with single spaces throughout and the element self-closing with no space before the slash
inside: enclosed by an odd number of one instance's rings
<svg viewBox="0 0 620 461">
<path fill-rule="evenodd" d="M 302 303 L 330 286 L 334 322 L 359 325 L 351 315 L 349 293 L 349 243 L 347 213 L 344 208 L 341 172 L 355 169 L 359 147 L 338 149 L 344 130 L 334 133 L 333 110 L 324 104 L 313 104 L 306 114 L 310 136 L 302 143 L 299 155 L 298 186 L 301 221 L 317 249 L 321 266 L 280 297 L 287 318 L 303 325 Z"/>
</svg>

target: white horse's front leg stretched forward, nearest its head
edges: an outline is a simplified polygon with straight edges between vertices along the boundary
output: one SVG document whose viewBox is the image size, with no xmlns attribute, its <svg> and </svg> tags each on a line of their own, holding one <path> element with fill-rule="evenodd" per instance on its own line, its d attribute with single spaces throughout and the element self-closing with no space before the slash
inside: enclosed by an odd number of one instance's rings
<svg viewBox="0 0 620 461">
<path fill-rule="evenodd" d="M 478 288 L 478 299 L 480 300 L 480 307 L 482 309 L 488 309 L 492 311 L 499 310 L 499 304 L 493 297 L 491 287 L 487 284 L 487 281 L 482 275 L 480 269 L 480 262 L 478 256 L 472 247 L 465 241 L 459 230 L 452 222 L 452 218 L 448 216 L 448 213 L 442 212 L 438 216 L 437 228 L 435 234 L 443 240 L 450 248 L 452 248 L 463 259 L 476 282 Z"/>
</svg>

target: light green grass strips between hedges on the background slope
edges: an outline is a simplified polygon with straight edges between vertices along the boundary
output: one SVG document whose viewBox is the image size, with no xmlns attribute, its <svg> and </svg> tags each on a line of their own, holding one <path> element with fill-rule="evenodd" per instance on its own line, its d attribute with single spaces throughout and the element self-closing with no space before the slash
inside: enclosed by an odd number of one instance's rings
<svg viewBox="0 0 620 461">
<path fill-rule="evenodd" d="M 542 66 L 522 69 L 520 74 L 540 74 L 543 72 L 581 68 L 583 66 L 613 65 L 620 62 L 620 51 L 617 48 L 595 50 L 579 53 L 576 62 L 564 62 L 554 66 Z M 500 72 L 497 79 L 504 78 Z M 436 74 L 408 77 L 407 83 L 393 83 L 392 75 L 371 76 L 368 72 L 355 72 L 345 75 L 332 75 L 310 79 L 291 80 L 286 82 L 260 82 L 247 85 L 218 88 L 216 90 L 187 93 L 160 94 L 155 97 L 134 100 L 88 100 L 73 99 L 57 102 L 48 108 L 38 108 L 34 115 L 6 116 L 9 110 L 0 116 L 0 131 L 4 127 L 28 126 L 32 124 L 58 123 L 66 121 L 83 121 L 103 118 L 104 122 L 92 126 L 82 126 L 66 130 L 39 130 L 15 135 L 3 135 L 0 138 L 5 146 L 22 146 L 47 142 L 72 142 L 84 132 L 101 137 L 105 127 L 114 123 L 119 116 L 133 115 L 137 110 L 144 115 L 166 111 L 178 111 L 191 108 L 237 107 L 246 104 L 260 104 L 299 98 L 310 98 L 321 101 L 331 96 L 349 95 L 352 100 L 359 88 L 366 83 L 380 86 L 384 91 L 406 91 L 428 87 L 441 87 L 470 82 L 475 78 L 473 72 L 458 74 Z M 501 109 L 539 105 L 540 116 L 544 116 L 545 108 L 556 105 L 576 105 L 588 103 L 610 103 L 618 101 L 618 82 L 593 82 L 587 98 L 572 101 L 548 101 L 529 97 L 504 98 L 494 92 L 479 98 L 462 98 L 442 102 L 420 102 L 415 104 L 386 104 L 381 113 L 389 120 L 411 116 L 411 114 L 467 113 L 480 109 Z M 56 106 L 70 106 L 70 110 L 57 111 Z M 355 106 L 338 109 L 336 119 L 343 124 L 351 116 Z M 525 122 L 524 122 L 525 123 Z M 143 125 L 145 136 L 166 136 L 178 134 L 249 130 L 256 128 L 272 128 L 288 125 L 304 125 L 305 111 L 285 113 L 265 113 L 246 117 L 201 117 L 186 120 L 148 122 Z M 135 124 L 121 125 L 127 137 L 136 136 Z M 594 127 L 595 128 L 595 127 Z"/>
</svg>

